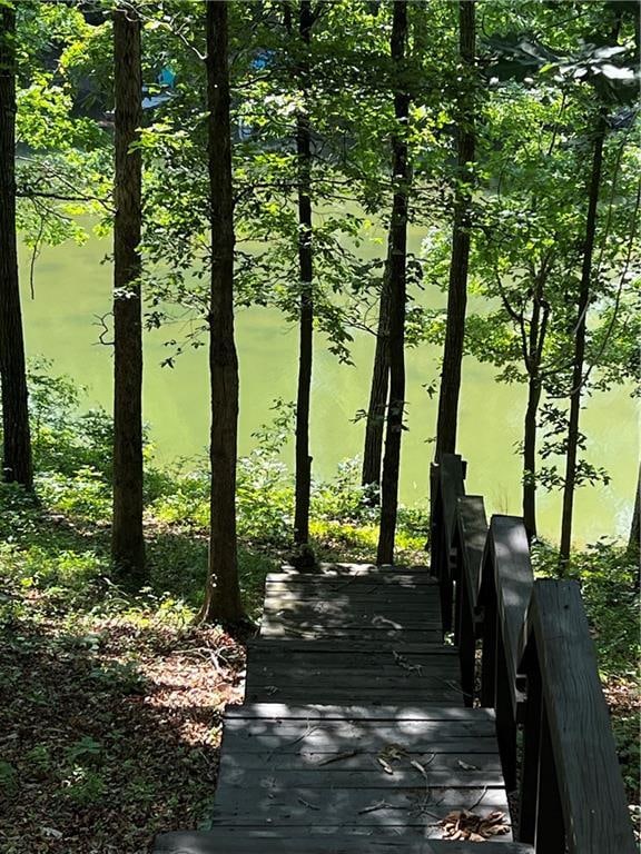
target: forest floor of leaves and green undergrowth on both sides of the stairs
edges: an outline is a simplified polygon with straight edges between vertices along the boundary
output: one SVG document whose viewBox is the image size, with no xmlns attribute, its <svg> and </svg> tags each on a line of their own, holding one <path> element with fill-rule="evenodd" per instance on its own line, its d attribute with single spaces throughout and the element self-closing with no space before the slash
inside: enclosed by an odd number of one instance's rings
<svg viewBox="0 0 641 854">
<path fill-rule="evenodd" d="M 150 522 L 150 586 L 128 596 L 108 580 L 103 523 L 13 499 L 0 500 L 0 851 L 144 854 L 157 832 L 206 823 L 221 715 L 243 698 L 243 643 L 194 625 L 206 536 Z M 371 559 L 368 528 L 315 530 L 323 558 Z M 255 619 L 283 554 L 266 543 L 240 552 Z M 617 664 L 612 652 L 627 655 L 622 612 L 612 627 L 594 613 L 596 643 L 614 663 L 602 676 L 638 804 L 639 691 L 633 663 Z M 631 813 L 639 826 L 639 807 Z"/>
</svg>

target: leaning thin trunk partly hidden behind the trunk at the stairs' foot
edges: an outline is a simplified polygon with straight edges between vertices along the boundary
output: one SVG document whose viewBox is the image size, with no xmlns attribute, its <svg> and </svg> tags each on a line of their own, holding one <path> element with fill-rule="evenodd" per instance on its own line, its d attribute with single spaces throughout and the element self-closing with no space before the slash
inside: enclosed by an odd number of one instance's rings
<svg viewBox="0 0 641 854">
<path fill-rule="evenodd" d="M 369 502 L 373 505 L 378 504 L 381 500 L 378 495 L 378 487 L 381 486 L 381 458 L 383 454 L 385 409 L 389 390 L 389 262 L 391 254 L 387 252 L 381 286 L 381 307 L 378 310 L 376 349 L 374 351 L 369 406 L 367 407 L 367 423 L 365 427 L 365 448 L 363 450 L 363 473 L 361 477 L 363 486 L 375 487 L 369 495 Z"/>
</svg>

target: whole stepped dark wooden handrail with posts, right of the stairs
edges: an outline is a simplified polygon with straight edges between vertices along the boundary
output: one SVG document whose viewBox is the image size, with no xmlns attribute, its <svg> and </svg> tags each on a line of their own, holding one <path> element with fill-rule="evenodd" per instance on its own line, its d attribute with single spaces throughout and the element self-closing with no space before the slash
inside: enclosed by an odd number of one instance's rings
<svg viewBox="0 0 641 854">
<path fill-rule="evenodd" d="M 521 783 L 517 838 L 536 854 L 635 851 L 596 659 L 575 582 L 534 580 L 523 520 L 466 496 L 465 464 L 431 470 L 432 572 L 467 705 L 482 643 L 481 705 L 496 709 L 507 788 Z M 447 629 L 448 630 L 448 629 Z M 520 757 L 517 729 L 523 732 Z"/>
</svg>

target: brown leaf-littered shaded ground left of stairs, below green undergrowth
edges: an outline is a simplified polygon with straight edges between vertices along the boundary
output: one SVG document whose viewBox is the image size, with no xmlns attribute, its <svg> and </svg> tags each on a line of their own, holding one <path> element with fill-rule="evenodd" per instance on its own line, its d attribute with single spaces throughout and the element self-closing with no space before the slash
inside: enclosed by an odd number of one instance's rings
<svg viewBox="0 0 641 854">
<path fill-rule="evenodd" d="M 0 634 L 0 850 L 137 854 L 197 825 L 243 647 L 140 616 L 73 626 L 38 599 Z"/>
</svg>

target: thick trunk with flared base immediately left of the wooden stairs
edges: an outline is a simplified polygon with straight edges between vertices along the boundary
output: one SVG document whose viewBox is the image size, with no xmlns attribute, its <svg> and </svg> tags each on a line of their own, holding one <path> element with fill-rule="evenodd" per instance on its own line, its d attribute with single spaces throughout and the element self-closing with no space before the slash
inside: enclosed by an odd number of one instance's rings
<svg viewBox="0 0 641 854">
<path fill-rule="evenodd" d="M 236 539 L 236 448 L 238 357 L 234 338 L 234 195 L 227 3 L 207 2 L 207 98 L 211 294 L 209 370 L 211 380 L 211 523 L 209 570 L 200 618 L 239 623 L 244 618 Z"/>
</svg>

